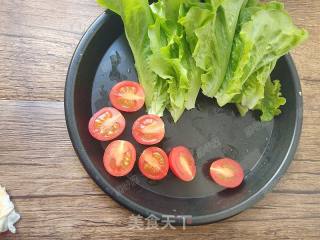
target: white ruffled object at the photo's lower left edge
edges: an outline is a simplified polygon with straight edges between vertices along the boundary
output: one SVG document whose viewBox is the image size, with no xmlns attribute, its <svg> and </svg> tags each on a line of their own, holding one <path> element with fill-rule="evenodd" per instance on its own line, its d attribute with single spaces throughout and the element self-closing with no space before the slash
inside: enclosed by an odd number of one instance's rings
<svg viewBox="0 0 320 240">
<path fill-rule="evenodd" d="M 19 221 L 20 215 L 14 210 L 14 205 L 6 189 L 0 185 L 0 233 L 10 231 L 16 232 L 14 224 Z"/>
</svg>

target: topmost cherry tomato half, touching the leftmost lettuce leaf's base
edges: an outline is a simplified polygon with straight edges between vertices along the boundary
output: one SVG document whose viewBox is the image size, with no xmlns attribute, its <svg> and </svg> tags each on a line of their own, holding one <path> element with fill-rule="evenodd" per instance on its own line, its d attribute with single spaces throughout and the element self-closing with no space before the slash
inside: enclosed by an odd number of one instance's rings
<svg viewBox="0 0 320 240">
<path fill-rule="evenodd" d="M 142 108 L 145 96 L 138 83 L 122 81 L 111 89 L 109 98 L 115 108 L 124 112 L 135 112 Z"/>
</svg>

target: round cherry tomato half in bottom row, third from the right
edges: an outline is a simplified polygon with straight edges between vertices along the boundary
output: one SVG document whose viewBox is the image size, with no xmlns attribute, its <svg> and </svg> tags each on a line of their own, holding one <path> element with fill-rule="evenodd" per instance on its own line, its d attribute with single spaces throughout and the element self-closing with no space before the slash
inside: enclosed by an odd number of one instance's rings
<svg viewBox="0 0 320 240">
<path fill-rule="evenodd" d="M 158 147 L 145 149 L 139 158 L 139 169 L 147 178 L 152 180 L 163 179 L 169 171 L 167 154 Z"/>
</svg>

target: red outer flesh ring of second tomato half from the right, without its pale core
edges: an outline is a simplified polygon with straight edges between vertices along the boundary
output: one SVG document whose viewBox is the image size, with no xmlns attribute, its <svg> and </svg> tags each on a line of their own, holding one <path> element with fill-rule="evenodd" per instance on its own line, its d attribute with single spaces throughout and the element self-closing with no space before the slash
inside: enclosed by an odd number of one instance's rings
<svg viewBox="0 0 320 240">
<path fill-rule="evenodd" d="M 178 161 L 177 155 L 180 152 L 183 152 L 184 155 L 186 155 L 187 158 L 192 161 L 192 165 L 191 165 L 192 176 L 185 176 L 185 175 L 183 175 L 183 173 L 181 173 L 181 171 L 179 171 L 179 169 L 177 167 L 178 166 L 177 165 L 177 161 Z M 184 146 L 177 146 L 171 150 L 171 152 L 169 154 L 169 166 L 170 166 L 170 170 L 173 172 L 173 174 L 176 177 L 178 177 L 179 179 L 181 179 L 182 181 L 190 182 L 196 176 L 196 165 L 195 165 L 194 158 L 193 158 L 191 152 L 189 151 L 189 149 Z"/>
</svg>

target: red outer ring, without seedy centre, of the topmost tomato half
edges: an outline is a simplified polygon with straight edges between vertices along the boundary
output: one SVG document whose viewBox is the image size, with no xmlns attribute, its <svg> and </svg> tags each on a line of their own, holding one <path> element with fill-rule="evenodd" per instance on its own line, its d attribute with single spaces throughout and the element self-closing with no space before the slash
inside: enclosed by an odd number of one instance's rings
<svg viewBox="0 0 320 240">
<path fill-rule="evenodd" d="M 116 101 L 117 100 L 117 96 L 116 96 L 117 90 L 120 89 L 121 87 L 124 87 L 124 86 L 135 87 L 137 89 L 138 94 L 141 95 L 142 99 L 140 101 L 137 101 L 136 107 L 125 108 L 125 107 L 121 106 L 119 103 L 117 103 L 117 101 Z M 126 80 L 126 81 L 121 81 L 112 87 L 112 89 L 109 93 L 109 100 L 110 100 L 112 106 L 120 111 L 136 112 L 136 111 L 139 111 L 144 105 L 145 93 L 144 93 L 142 86 L 139 83 Z"/>
</svg>

